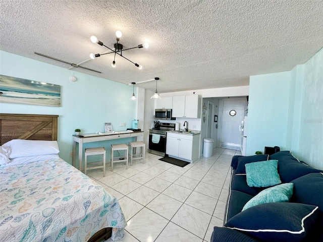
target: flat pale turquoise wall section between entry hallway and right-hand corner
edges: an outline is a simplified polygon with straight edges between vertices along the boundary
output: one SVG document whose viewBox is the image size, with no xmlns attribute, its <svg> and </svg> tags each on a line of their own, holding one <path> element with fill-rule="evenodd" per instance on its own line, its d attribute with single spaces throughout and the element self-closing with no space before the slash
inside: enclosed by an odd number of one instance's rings
<svg viewBox="0 0 323 242">
<path fill-rule="evenodd" d="M 289 98 L 290 72 L 250 77 L 246 155 L 286 149 Z"/>
</svg>

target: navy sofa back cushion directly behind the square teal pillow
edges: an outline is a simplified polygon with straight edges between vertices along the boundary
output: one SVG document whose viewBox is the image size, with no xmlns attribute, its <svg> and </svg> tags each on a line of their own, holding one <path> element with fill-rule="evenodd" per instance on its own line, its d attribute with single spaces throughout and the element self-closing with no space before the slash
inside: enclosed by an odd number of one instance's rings
<svg viewBox="0 0 323 242">
<path fill-rule="evenodd" d="M 291 180 L 308 173 L 323 172 L 299 162 L 289 151 L 280 151 L 269 157 L 278 160 L 278 173 L 283 183 L 290 183 Z"/>
</svg>

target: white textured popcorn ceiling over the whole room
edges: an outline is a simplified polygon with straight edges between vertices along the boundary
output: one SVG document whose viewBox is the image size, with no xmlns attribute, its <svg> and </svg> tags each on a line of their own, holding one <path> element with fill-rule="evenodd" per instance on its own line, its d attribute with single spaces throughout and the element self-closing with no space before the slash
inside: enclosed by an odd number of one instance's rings
<svg viewBox="0 0 323 242">
<path fill-rule="evenodd" d="M 0 49 L 70 68 L 113 47 L 148 49 L 80 64 L 74 71 L 120 83 L 159 77 L 158 92 L 249 85 L 249 76 L 290 71 L 323 47 L 321 0 L 0 0 Z M 4 59 L 1 60 L 5 61 Z M 154 91 L 155 82 L 138 84 Z"/>
</svg>

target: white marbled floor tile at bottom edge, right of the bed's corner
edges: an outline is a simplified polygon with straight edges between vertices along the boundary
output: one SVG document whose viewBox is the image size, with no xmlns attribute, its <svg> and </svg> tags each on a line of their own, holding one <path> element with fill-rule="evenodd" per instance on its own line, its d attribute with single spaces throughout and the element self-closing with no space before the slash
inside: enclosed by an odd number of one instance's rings
<svg viewBox="0 0 323 242">
<path fill-rule="evenodd" d="M 168 224 L 169 220 L 143 208 L 139 213 L 128 221 L 126 230 L 135 236 L 139 241 L 154 241 L 158 234 Z"/>
</svg>

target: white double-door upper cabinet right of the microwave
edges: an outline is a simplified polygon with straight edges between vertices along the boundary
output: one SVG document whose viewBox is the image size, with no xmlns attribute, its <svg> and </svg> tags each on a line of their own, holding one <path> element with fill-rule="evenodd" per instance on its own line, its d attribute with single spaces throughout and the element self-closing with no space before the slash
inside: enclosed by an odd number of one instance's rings
<svg viewBox="0 0 323 242">
<path fill-rule="evenodd" d="M 173 117 L 201 117 L 201 102 L 200 95 L 175 96 L 173 97 Z"/>
</svg>

